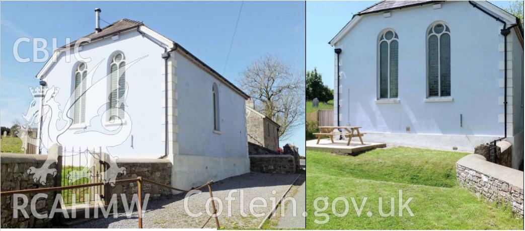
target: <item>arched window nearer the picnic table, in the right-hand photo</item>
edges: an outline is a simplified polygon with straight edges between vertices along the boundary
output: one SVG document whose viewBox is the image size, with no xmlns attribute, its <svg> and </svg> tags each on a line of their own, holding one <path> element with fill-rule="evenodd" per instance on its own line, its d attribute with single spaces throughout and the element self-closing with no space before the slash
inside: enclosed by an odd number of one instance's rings
<svg viewBox="0 0 525 231">
<path fill-rule="evenodd" d="M 386 30 L 379 38 L 379 98 L 397 98 L 397 34 Z"/>
</svg>

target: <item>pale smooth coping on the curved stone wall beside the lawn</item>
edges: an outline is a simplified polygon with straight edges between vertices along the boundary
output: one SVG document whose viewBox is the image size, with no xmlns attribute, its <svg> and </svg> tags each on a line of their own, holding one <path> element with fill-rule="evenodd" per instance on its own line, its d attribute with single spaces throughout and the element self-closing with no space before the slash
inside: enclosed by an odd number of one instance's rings
<svg viewBox="0 0 525 231">
<path fill-rule="evenodd" d="M 513 186 L 523 189 L 523 172 L 511 169 L 510 167 L 502 166 L 489 162 L 484 156 L 479 154 L 470 154 L 456 162 L 457 165 L 467 167 L 468 169 L 480 172 L 482 174 L 498 178 Z"/>
</svg>

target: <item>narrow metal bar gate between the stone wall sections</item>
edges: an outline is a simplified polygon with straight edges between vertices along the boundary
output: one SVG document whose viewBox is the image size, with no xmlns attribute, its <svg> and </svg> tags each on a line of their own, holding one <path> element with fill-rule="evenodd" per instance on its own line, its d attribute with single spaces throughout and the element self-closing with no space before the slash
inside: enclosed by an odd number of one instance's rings
<svg viewBox="0 0 525 231">
<path fill-rule="evenodd" d="M 64 147 L 57 163 L 58 186 L 102 182 L 101 173 L 107 169 L 102 160 L 104 159 L 101 148 L 96 150 Z M 62 190 L 60 194 L 67 207 L 72 204 L 92 205 L 99 200 L 103 203 L 104 192 L 104 186 L 99 185 Z"/>
</svg>

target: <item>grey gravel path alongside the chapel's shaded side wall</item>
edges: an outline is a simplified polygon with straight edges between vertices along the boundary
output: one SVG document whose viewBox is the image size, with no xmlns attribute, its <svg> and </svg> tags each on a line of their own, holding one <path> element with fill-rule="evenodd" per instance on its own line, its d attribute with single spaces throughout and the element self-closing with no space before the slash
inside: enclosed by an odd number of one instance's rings
<svg viewBox="0 0 525 231">
<path fill-rule="evenodd" d="M 229 177 L 225 180 L 216 182 L 212 185 L 213 195 L 222 202 L 222 213 L 219 214 L 219 223 L 225 228 L 256 228 L 262 222 L 267 213 L 271 211 L 272 199 L 276 201 L 282 195 L 288 186 L 295 180 L 297 174 L 264 174 L 264 173 L 246 173 L 239 176 Z M 231 206 L 228 205 L 226 197 L 232 190 L 243 192 L 241 198 L 240 192 L 233 192 L 231 195 L 234 200 Z M 255 197 L 261 197 L 266 200 L 267 206 L 254 208 L 255 213 L 260 213 L 255 217 L 250 213 L 249 204 Z M 164 198 L 156 198 L 149 201 L 146 212 L 143 217 L 144 228 L 200 228 L 206 221 L 205 203 L 209 198 L 209 193 L 203 191 L 201 194 L 192 195 L 188 199 L 189 209 L 192 213 L 202 212 L 201 217 L 191 217 L 184 210 L 184 195 L 174 195 Z M 246 216 L 240 214 L 240 202 L 244 203 L 243 211 Z M 217 210 L 220 212 L 220 203 L 216 202 Z M 255 205 L 262 206 L 261 201 L 256 201 Z M 212 211 L 209 205 L 209 211 Z M 228 216 L 228 210 L 232 216 Z M 119 213 L 118 218 L 110 216 L 91 220 L 68 228 L 137 228 L 138 213 L 134 212 L 130 218 L 125 213 Z M 206 225 L 207 228 L 216 228 L 215 221 L 212 218 Z"/>
</svg>

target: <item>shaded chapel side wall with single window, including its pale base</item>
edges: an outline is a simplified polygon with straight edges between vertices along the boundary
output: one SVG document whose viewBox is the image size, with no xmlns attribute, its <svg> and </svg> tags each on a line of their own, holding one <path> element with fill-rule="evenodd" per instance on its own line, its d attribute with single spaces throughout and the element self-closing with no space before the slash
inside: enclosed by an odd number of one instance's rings
<svg viewBox="0 0 525 231">
<path fill-rule="evenodd" d="M 249 172 L 244 97 L 178 51 L 172 56 L 178 148 L 172 185 L 191 188 Z M 219 132 L 213 127 L 213 83 L 219 92 Z"/>
</svg>

